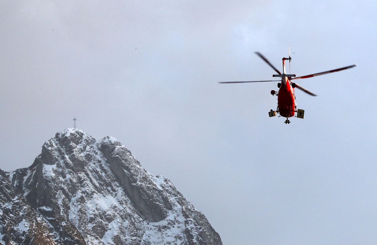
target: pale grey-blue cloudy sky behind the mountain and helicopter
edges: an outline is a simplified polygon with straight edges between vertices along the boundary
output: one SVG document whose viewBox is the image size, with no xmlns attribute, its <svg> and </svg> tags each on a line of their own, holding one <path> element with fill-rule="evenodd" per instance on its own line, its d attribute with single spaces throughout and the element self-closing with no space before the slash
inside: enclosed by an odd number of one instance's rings
<svg viewBox="0 0 377 245">
<path fill-rule="evenodd" d="M 224 244 L 376 244 L 375 1 L 2 1 L 0 168 L 113 136 Z M 269 118 L 291 48 L 305 119 Z"/>
</svg>

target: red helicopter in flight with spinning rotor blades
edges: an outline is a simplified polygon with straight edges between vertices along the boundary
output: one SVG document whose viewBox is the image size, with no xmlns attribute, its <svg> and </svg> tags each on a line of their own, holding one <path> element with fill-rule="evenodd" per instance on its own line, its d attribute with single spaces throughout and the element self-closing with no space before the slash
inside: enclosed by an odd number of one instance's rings
<svg viewBox="0 0 377 245">
<path fill-rule="evenodd" d="M 298 89 L 300 89 L 300 90 L 304 91 L 305 93 L 310 94 L 312 96 L 317 96 L 316 94 L 309 91 L 308 89 L 303 88 L 303 87 L 299 86 L 298 84 L 292 82 L 292 80 L 294 80 L 294 79 L 304 79 L 304 78 L 308 78 L 308 77 L 315 77 L 315 76 L 319 76 L 319 75 L 323 75 L 323 74 L 333 73 L 333 72 L 336 72 L 336 71 L 342 71 L 342 70 L 346 70 L 346 69 L 349 69 L 349 68 L 352 68 L 352 67 L 356 67 L 356 65 L 349 65 L 347 67 L 342 67 L 342 68 L 338 68 L 338 69 L 334 69 L 334 70 L 330 70 L 330 71 L 324 71 L 324 72 L 320 72 L 320 73 L 310 74 L 310 75 L 307 75 L 307 76 L 296 77 L 295 74 L 286 74 L 285 73 L 285 60 L 288 60 L 289 64 L 291 65 L 292 58 L 291 58 L 290 50 L 289 50 L 289 58 L 283 58 L 282 59 L 283 60 L 283 73 L 280 73 L 280 71 L 277 70 L 276 67 L 274 67 L 271 64 L 271 62 L 265 56 L 263 56 L 263 54 L 261 54 L 259 52 L 254 52 L 254 53 L 256 53 L 257 56 L 259 56 L 262 60 L 264 60 L 264 62 L 266 62 L 272 69 L 274 69 L 276 71 L 276 73 L 278 73 L 277 75 L 272 75 L 272 76 L 273 77 L 281 77 L 281 80 L 219 82 L 219 83 L 281 82 L 281 83 L 277 83 L 277 87 L 279 88 L 279 92 L 271 90 L 271 94 L 277 96 L 277 108 L 276 108 L 276 111 L 271 109 L 270 112 L 268 112 L 268 115 L 271 117 L 271 116 L 276 116 L 276 113 L 279 113 L 280 116 L 287 118 L 285 120 L 285 124 L 290 123 L 288 118 L 290 118 L 292 116 L 296 116 L 298 118 L 304 118 L 304 110 L 297 109 L 296 95 L 294 94 L 295 88 L 298 88 Z M 297 115 L 296 115 L 296 113 L 297 113 Z"/>
</svg>

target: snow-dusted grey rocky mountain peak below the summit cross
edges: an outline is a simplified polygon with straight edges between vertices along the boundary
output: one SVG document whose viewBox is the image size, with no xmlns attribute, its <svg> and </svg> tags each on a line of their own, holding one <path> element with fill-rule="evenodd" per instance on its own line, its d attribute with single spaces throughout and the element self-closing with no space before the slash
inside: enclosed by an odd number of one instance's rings
<svg viewBox="0 0 377 245">
<path fill-rule="evenodd" d="M 222 244 L 168 178 L 111 137 L 66 129 L 0 180 L 0 244 Z"/>
</svg>

